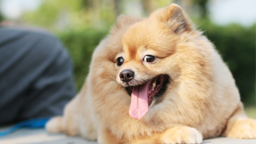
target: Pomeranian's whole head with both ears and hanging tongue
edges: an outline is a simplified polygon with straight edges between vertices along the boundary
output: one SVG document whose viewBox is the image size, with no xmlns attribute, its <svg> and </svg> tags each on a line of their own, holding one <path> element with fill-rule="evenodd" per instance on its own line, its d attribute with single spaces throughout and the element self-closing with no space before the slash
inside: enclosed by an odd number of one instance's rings
<svg viewBox="0 0 256 144">
<path fill-rule="evenodd" d="M 188 69 L 191 71 L 188 57 L 200 60 L 197 53 L 189 50 L 198 35 L 201 33 L 176 4 L 145 19 L 124 15 L 118 18 L 103 42 L 106 51 L 101 57 L 108 55 L 116 82 L 130 93 L 129 114 L 134 119 L 142 118 L 149 107 L 160 103 L 179 77 Z"/>
</svg>

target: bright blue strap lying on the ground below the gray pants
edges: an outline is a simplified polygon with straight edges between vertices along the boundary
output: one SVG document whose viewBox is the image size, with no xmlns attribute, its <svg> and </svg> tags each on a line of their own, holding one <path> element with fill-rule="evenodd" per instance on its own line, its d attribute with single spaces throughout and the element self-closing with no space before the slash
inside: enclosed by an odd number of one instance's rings
<svg viewBox="0 0 256 144">
<path fill-rule="evenodd" d="M 4 130 L 4 131 L 0 131 L 0 137 L 8 135 L 22 127 L 43 128 L 49 119 L 50 119 L 50 117 L 40 117 L 40 118 L 31 118 L 28 120 L 20 121 L 19 123 L 15 124 L 11 128 Z"/>
</svg>

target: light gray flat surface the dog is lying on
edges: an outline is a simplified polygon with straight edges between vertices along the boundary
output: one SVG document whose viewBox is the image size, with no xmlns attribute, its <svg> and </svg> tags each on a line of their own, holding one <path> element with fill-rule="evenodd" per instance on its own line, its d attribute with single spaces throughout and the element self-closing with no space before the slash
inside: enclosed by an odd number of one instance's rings
<svg viewBox="0 0 256 144">
<path fill-rule="evenodd" d="M 6 128 L 0 128 L 4 130 Z M 64 133 L 49 134 L 45 129 L 19 129 L 0 138 L 0 144 L 97 144 L 81 137 L 70 137 Z M 202 144 L 256 144 L 256 140 L 218 137 L 206 139 Z"/>
</svg>

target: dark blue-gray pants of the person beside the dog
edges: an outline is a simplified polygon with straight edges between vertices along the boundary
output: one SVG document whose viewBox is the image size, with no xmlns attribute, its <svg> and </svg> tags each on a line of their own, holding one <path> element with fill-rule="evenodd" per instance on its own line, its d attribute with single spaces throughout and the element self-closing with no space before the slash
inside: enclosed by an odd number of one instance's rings
<svg viewBox="0 0 256 144">
<path fill-rule="evenodd" d="M 56 37 L 0 27 L 0 125 L 61 115 L 75 92 L 72 62 Z"/>
</svg>

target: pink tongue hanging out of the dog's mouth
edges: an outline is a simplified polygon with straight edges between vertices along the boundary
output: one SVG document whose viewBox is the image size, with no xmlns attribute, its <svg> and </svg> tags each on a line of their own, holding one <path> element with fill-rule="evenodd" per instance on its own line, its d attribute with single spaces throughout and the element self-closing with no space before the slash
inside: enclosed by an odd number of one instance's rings
<svg viewBox="0 0 256 144">
<path fill-rule="evenodd" d="M 129 114 L 134 119 L 141 119 L 148 111 L 147 91 L 151 82 L 132 88 Z"/>
</svg>

